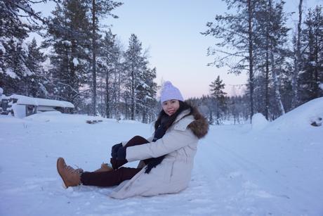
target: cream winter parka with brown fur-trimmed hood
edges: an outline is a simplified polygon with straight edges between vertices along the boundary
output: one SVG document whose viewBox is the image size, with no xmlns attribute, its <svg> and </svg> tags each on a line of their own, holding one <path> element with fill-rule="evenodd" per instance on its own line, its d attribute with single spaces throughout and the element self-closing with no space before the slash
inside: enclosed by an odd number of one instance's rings
<svg viewBox="0 0 323 216">
<path fill-rule="evenodd" d="M 180 113 L 162 139 L 126 148 L 129 162 L 166 156 L 149 174 L 145 173 L 144 167 L 132 179 L 122 182 L 110 193 L 112 198 L 177 193 L 187 187 L 198 139 L 205 136 L 209 129 L 208 122 L 197 109 L 194 108 L 192 115 L 186 116 L 188 113 L 190 110 Z"/>
</svg>

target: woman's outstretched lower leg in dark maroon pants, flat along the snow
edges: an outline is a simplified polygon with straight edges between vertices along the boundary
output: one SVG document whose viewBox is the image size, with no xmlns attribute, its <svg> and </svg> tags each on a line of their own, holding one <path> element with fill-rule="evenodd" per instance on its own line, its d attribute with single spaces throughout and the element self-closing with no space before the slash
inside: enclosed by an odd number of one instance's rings
<svg viewBox="0 0 323 216">
<path fill-rule="evenodd" d="M 140 170 L 139 168 L 120 167 L 118 170 L 107 172 L 83 172 L 81 183 L 91 186 L 115 186 L 124 180 L 131 179 Z"/>
</svg>

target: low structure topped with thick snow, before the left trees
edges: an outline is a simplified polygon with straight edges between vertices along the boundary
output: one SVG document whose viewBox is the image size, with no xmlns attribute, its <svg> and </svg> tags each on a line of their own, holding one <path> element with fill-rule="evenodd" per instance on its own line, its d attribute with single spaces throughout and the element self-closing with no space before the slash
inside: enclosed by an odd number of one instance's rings
<svg viewBox="0 0 323 216">
<path fill-rule="evenodd" d="M 32 98 L 19 94 L 13 94 L 8 99 L 8 110 L 15 117 L 26 117 L 34 113 L 57 110 L 65 113 L 74 108 L 74 105 L 67 101 Z"/>
</svg>

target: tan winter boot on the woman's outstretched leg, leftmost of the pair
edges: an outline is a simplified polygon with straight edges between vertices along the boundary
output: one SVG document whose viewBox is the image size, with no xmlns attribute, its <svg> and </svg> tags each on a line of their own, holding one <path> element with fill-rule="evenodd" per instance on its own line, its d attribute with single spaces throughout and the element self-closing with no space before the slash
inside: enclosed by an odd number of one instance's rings
<svg viewBox="0 0 323 216">
<path fill-rule="evenodd" d="M 66 187 L 77 186 L 81 184 L 81 174 L 73 167 L 67 166 L 64 158 L 58 158 L 57 160 L 57 171 L 62 178 Z"/>
</svg>

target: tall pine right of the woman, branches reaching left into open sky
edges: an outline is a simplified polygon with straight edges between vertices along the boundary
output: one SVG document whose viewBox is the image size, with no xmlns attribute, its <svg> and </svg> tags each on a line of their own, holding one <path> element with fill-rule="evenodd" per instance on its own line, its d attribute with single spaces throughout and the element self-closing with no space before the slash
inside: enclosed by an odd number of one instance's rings
<svg viewBox="0 0 323 216">
<path fill-rule="evenodd" d="M 237 13 L 216 15 L 213 23 L 206 23 L 209 30 L 204 35 L 220 39 L 216 47 L 208 49 L 208 55 L 217 55 L 210 65 L 227 65 L 231 72 L 239 74 L 243 70 L 249 74 L 250 116 L 253 115 L 253 82 L 256 40 L 256 12 L 261 6 L 260 0 L 226 0 L 228 9 L 236 8 Z M 228 51 L 229 50 L 229 51 Z M 234 61 L 232 61 L 234 60 Z M 251 118 L 250 118 L 251 119 Z"/>
</svg>

